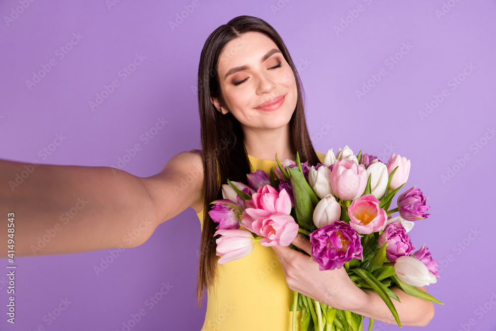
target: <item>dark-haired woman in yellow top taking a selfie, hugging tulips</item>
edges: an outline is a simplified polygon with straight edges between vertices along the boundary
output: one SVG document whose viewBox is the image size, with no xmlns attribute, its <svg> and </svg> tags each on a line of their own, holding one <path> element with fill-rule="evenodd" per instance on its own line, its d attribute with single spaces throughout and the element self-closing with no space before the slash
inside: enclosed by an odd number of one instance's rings
<svg viewBox="0 0 496 331">
<path fill-rule="evenodd" d="M 395 324 L 382 299 L 356 287 L 343 268 L 319 271 L 307 255 L 287 247 L 256 244 L 249 256 L 217 265 L 216 225 L 208 211 L 209 202 L 222 197 L 220 184 L 227 179 L 246 183 L 247 173 L 273 167 L 276 153 L 280 160 L 294 160 L 298 151 L 310 164 L 323 159 L 310 141 L 299 80 L 282 39 L 265 21 L 239 16 L 220 26 L 205 42 L 198 69 L 202 151 L 179 153 L 147 178 L 108 167 L 38 166 L 23 190 L 4 186 L 1 191 L 7 203 L 0 212 L 17 206 L 23 219 L 36 219 L 16 225 L 16 255 L 32 255 L 29 245 L 77 197 L 91 201 L 80 210 L 83 221 L 67 224 L 43 254 L 139 246 L 156 226 L 192 207 L 202 222 L 198 301 L 208 290 L 202 330 L 289 330 L 292 290 Z M 24 164 L 0 160 L 0 166 L 6 183 Z M 185 178 L 193 180 L 185 186 Z M 151 225 L 124 243 L 123 236 L 143 217 Z M 302 236 L 294 244 L 310 253 L 310 242 Z M 391 289 L 402 302 L 393 301 L 402 325 L 429 323 L 431 302 Z"/>
</svg>

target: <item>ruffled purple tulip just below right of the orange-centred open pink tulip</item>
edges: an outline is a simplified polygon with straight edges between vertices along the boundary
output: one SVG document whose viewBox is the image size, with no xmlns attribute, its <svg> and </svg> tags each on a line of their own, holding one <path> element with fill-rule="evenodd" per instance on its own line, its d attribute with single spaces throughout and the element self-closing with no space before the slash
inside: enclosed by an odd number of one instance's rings
<svg viewBox="0 0 496 331">
<path fill-rule="evenodd" d="M 415 249 L 401 222 L 386 226 L 384 232 L 379 235 L 379 246 L 384 245 L 386 241 L 386 258 L 390 262 L 396 262 L 400 256 L 407 256 Z"/>
</svg>

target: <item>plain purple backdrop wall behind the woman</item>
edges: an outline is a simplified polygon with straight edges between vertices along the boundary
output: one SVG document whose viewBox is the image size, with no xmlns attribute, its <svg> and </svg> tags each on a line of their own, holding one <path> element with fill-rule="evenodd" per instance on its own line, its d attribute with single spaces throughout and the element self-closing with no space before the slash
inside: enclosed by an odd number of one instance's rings
<svg viewBox="0 0 496 331">
<path fill-rule="evenodd" d="M 496 139 L 488 131 L 496 122 L 495 1 L 200 0 L 193 7 L 193 1 L 122 0 L 109 8 L 104 0 L 26 0 L 25 9 L 21 2 L 0 2 L 1 158 L 115 167 L 126 148 L 140 143 L 123 169 L 140 177 L 159 172 L 175 154 L 200 148 L 196 79 L 206 38 L 235 16 L 260 17 L 280 33 L 298 67 L 316 150 L 347 144 L 384 162 L 393 152 L 411 159 L 405 189 L 418 185 L 431 197 L 432 216 L 410 234 L 416 248 L 426 243 L 444 264 L 442 278 L 427 287 L 444 305 L 435 304 L 425 330 L 496 330 Z M 194 10 L 173 30 L 169 22 L 185 6 Z M 61 59 L 56 50 L 73 33 L 83 37 Z M 402 45 L 411 48 L 398 53 Z M 146 59 L 123 80 L 119 70 L 135 54 Z M 386 62 L 395 54 L 396 63 Z M 51 59 L 57 65 L 28 87 L 26 80 Z M 356 90 L 381 68 L 383 76 L 359 98 Z M 452 85 L 458 75 L 463 81 Z M 88 102 L 114 79 L 120 85 L 92 111 Z M 421 116 L 443 89 L 447 96 Z M 162 117 L 168 123 L 144 144 L 140 136 Z M 66 139 L 43 158 L 39 151 L 60 133 Z M 6 322 L 2 271 L 0 329 L 122 330 L 145 308 L 131 330 L 199 330 L 206 307 L 204 301 L 197 309 L 194 299 L 199 225 L 188 208 L 98 276 L 93 266 L 109 250 L 18 258 L 16 324 Z M 162 282 L 173 287 L 149 310 L 145 300 Z M 71 303 L 48 325 L 44 316 L 65 298 Z M 486 313 L 477 311 L 484 305 Z M 376 323 L 374 330 L 398 327 Z"/>
</svg>

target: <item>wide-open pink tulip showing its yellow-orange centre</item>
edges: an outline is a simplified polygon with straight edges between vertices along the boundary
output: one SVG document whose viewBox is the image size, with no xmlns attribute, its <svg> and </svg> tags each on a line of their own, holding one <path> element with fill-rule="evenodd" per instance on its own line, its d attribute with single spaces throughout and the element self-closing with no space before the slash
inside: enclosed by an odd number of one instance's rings
<svg viewBox="0 0 496 331">
<path fill-rule="evenodd" d="M 348 207 L 350 226 L 361 234 L 379 232 L 386 226 L 387 214 L 372 194 L 353 200 Z"/>
</svg>

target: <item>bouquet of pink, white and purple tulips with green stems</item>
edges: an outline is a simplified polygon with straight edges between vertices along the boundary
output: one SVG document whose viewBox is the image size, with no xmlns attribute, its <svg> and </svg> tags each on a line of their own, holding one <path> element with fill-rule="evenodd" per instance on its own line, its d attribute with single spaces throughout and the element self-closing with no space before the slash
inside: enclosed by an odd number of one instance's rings
<svg viewBox="0 0 496 331">
<path fill-rule="evenodd" d="M 344 267 L 360 288 L 373 289 L 385 302 L 396 323 L 400 320 L 389 289 L 396 284 L 405 293 L 442 304 L 417 288 L 435 283 L 437 263 L 428 248 L 415 251 L 408 231 L 414 222 L 429 217 L 426 199 L 415 186 L 397 198 L 406 184 L 410 160 L 392 154 L 387 163 L 367 153 L 353 154 L 346 146 L 336 155 L 330 149 L 323 164 L 315 166 L 286 159 L 270 174 L 248 174 L 248 186 L 231 182 L 222 186 L 223 198 L 212 202 L 211 218 L 219 223 L 215 236 L 218 263 L 248 255 L 255 242 L 262 246 L 290 246 L 298 232 L 309 236 L 310 260 L 319 270 Z M 388 215 L 399 212 L 399 216 Z M 243 226 L 245 229 L 240 229 Z M 294 245 L 292 248 L 297 249 Z M 415 252 L 414 252 L 415 251 Z M 294 292 L 296 311 L 302 311 L 301 330 L 363 328 L 364 316 L 335 309 Z M 372 330 L 373 319 L 369 324 Z"/>
</svg>

